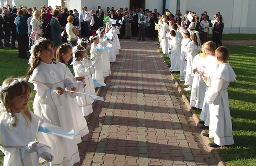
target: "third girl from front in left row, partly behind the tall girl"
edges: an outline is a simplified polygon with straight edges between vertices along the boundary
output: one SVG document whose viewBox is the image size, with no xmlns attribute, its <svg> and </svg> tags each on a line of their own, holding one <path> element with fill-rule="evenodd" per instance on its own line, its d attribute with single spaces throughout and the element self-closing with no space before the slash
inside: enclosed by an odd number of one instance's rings
<svg viewBox="0 0 256 166">
<path fill-rule="evenodd" d="M 58 62 L 64 63 L 67 65 L 67 62 L 70 61 L 72 57 L 72 46 L 67 44 L 67 42 L 62 43 L 60 47 L 57 49 L 56 52 L 56 60 Z M 69 68 L 67 68 L 67 75 L 70 79 L 73 79 L 73 81 L 76 83 L 76 87 L 78 87 L 79 92 L 83 92 L 84 87 L 86 84 L 84 84 L 84 78 L 76 76 L 74 77 Z M 79 94 L 78 94 L 79 95 Z M 79 95 L 80 96 L 80 95 Z M 76 98 L 80 98 L 79 96 L 76 96 Z M 79 133 L 80 136 L 83 137 L 84 135 L 89 133 L 89 129 L 87 127 L 87 122 L 84 119 L 84 115 L 82 114 L 81 107 L 79 103 L 76 101 L 76 98 L 70 98 L 70 102 L 73 102 L 73 120 L 77 121 L 77 124 L 79 125 Z M 81 138 L 77 138 L 77 143 L 81 142 Z"/>
</svg>

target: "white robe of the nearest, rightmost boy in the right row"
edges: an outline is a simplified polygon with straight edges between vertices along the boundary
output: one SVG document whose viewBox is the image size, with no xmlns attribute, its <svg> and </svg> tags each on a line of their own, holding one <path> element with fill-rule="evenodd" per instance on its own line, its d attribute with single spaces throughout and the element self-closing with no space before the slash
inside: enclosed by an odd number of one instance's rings
<svg viewBox="0 0 256 166">
<path fill-rule="evenodd" d="M 209 103 L 209 138 L 219 146 L 234 144 L 227 87 L 236 81 L 236 74 L 229 63 L 220 64 L 212 77 L 212 84 L 205 94 Z"/>
</svg>

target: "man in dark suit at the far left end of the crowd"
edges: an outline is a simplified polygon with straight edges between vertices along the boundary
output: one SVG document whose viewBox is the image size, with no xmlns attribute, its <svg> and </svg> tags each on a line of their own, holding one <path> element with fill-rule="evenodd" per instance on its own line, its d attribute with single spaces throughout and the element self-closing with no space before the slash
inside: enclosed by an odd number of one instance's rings
<svg viewBox="0 0 256 166">
<path fill-rule="evenodd" d="M 6 8 L 4 9 L 3 13 L 4 13 L 3 14 L 3 20 L 4 20 L 3 31 L 5 33 L 4 46 L 12 47 L 10 44 L 10 39 L 11 39 L 11 26 L 10 26 L 10 18 L 9 18 L 10 11 Z"/>
</svg>

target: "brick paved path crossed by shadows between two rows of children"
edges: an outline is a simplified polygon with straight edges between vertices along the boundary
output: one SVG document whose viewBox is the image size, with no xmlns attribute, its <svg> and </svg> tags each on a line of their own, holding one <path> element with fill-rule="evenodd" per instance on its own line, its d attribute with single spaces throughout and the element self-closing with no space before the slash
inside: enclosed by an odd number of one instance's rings
<svg viewBox="0 0 256 166">
<path fill-rule="evenodd" d="M 156 42 L 146 40 L 120 40 L 122 49 L 100 95 L 105 101 L 94 108 L 75 165 L 217 165 Z"/>
</svg>

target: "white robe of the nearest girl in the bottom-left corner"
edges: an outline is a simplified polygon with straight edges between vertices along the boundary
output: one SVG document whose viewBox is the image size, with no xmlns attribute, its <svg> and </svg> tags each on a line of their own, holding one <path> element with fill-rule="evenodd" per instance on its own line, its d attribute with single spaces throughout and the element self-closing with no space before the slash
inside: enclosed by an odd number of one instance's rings
<svg viewBox="0 0 256 166">
<path fill-rule="evenodd" d="M 43 152 L 51 153 L 49 142 L 54 142 L 52 135 L 38 132 L 37 141 L 39 142 L 39 149 L 37 152 L 29 153 L 25 146 L 29 142 L 35 141 L 37 132 L 38 120 L 42 119 L 30 112 L 32 121 L 26 118 L 21 112 L 15 113 L 18 118 L 17 126 L 13 127 L 8 122 L 9 118 L 5 115 L 0 117 L 0 150 L 5 154 L 3 159 L 3 166 L 39 166 L 39 163 L 44 162 L 43 158 L 39 158 Z M 28 122 L 28 123 L 26 123 Z M 26 124 L 26 125 L 25 125 Z M 52 147 L 55 148 L 55 147 Z M 55 157 L 55 156 L 54 156 Z"/>
</svg>

